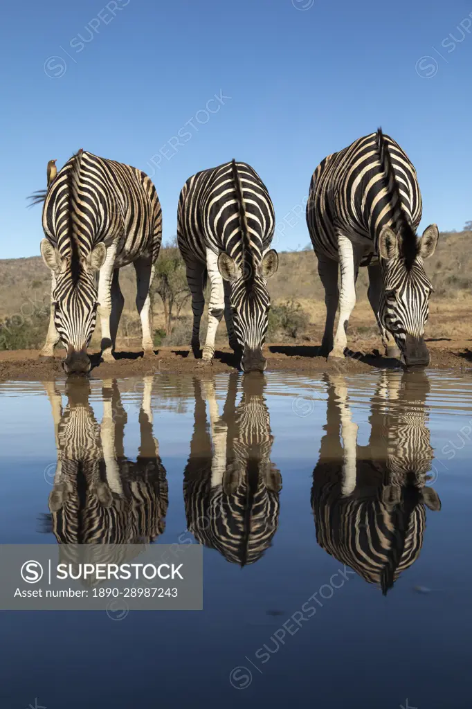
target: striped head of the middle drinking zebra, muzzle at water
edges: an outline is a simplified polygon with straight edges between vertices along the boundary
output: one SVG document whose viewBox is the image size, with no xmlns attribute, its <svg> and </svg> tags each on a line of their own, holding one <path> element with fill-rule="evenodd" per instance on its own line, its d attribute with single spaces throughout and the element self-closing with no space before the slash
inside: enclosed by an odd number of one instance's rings
<svg viewBox="0 0 472 709">
<path fill-rule="evenodd" d="M 274 249 L 266 252 L 260 264 L 240 267 L 230 255 L 222 251 L 218 269 L 231 284 L 231 312 L 237 341 L 242 347 L 243 372 L 264 372 L 267 362 L 262 354 L 269 323 L 270 296 L 267 279 L 279 267 L 279 256 Z"/>
</svg>

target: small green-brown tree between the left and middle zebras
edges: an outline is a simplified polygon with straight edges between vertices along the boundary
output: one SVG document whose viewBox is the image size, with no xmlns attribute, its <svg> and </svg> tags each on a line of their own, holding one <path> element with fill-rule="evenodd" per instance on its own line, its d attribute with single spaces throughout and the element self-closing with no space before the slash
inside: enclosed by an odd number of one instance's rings
<svg viewBox="0 0 472 709">
<path fill-rule="evenodd" d="M 181 309 L 190 298 L 185 265 L 181 258 L 177 239 L 162 248 L 156 262 L 154 279 L 155 291 L 164 306 L 164 327 L 166 335 L 172 333 L 173 320 L 178 318 Z"/>
</svg>

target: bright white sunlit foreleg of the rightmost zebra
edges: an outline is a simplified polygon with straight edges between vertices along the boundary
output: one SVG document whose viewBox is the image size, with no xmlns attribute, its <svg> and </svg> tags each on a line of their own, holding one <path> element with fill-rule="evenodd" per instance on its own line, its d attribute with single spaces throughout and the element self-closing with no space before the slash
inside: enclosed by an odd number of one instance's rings
<svg viewBox="0 0 472 709">
<path fill-rule="evenodd" d="M 339 295 L 339 321 L 330 358 L 344 357 L 344 350 L 347 347 L 347 324 L 356 304 L 356 276 L 359 269 L 359 259 L 356 259 L 354 255 L 352 241 L 339 232 L 337 247 L 341 267 L 341 293 Z"/>
</svg>

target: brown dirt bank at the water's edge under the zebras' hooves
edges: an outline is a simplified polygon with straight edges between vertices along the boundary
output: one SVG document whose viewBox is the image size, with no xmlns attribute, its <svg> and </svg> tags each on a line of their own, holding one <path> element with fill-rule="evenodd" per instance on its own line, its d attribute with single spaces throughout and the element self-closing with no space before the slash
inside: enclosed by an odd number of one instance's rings
<svg viewBox="0 0 472 709">
<path fill-rule="evenodd" d="M 355 346 L 356 343 L 354 343 Z M 472 368 L 472 340 L 430 340 L 430 369 Z M 286 370 L 296 372 L 333 372 L 343 367 L 346 372 L 369 372 L 373 367 L 400 367 L 397 359 L 388 359 L 378 354 L 378 342 L 362 342 L 362 347 L 352 350 L 344 361 L 327 362 L 318 354 L 318 345 L 266 345 L 267 371 Z M 51 362 L 38 359 L 38 350 L 0 352 L 0 380 L 47 380 L 65 376 L 61 366 L 62 355 Z M 212 364 L 194 359 L 188 347 L 162 347 L 154 357 L 143 358 L 142 352 L 118 352 L 115 362 L 101 362 L 98 353 L 91 353 L 94 379 L 124 378 L 150 372 L 192 374 L 210 369 L 212 372 L 229 372 L 237 367 L 231 350 L 217 350 Z"/>
</svg>

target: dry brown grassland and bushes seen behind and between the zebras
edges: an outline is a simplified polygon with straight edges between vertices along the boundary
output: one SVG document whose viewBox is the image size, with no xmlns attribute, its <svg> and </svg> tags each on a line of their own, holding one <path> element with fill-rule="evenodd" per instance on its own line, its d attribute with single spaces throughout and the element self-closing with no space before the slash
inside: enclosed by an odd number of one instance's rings
<svg viewBox="0 0 472 709">
<path fill-rule="evenodd" d="M 426 262 L 434 294 L 430 303 L 427 337 L 437 340 L 469 338 L 472 308 L 472 255 L 468 246 L 472 232 L 442 233 L 437 252 Z M 154 332 L 156 345 L 186 345 L 191 335 L 190 300 L 182 289 L 184 269 L 173 247 L 162 249 L 154 281 Z M 118 332 L 117 349 L 140 343 L 140 323 L 135 310 L 135 272 L 132 266 L 120 273 L 125 308 Z M 169 300 L 163 306 L 159 292 L 169 288 L 176 301 L 169 316 Z M 271 342 L 314 342 L 321 340 L 324 291 L 318 277 L 313 250 L 282 252 L 279 272 L 269 281 L 272 310 L 268 340 Z M 358 301 L 349 324 L 349 342 L 355 344 L 376 337 L 376 324 L 366 297 L 367 271 L 361 269 Z M 187 294 L 188 295 L 188 294 Z M 37 348 L 45 337 L 49 317 L 50 276 L 40 257 L 0 260 L 0 350 Z M 206 322 L 203 318 L 203 328 Z M 203 329 L 204 333 L 205 330 Z M 8 337 L 6 336 L 8 335 Z M 217 342 L 225 340 L 222 321 Z M 99 344 L 97 328 L 91 342 Z"/>
</svg>

